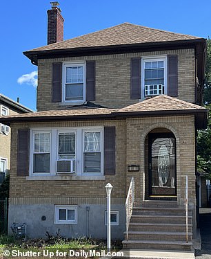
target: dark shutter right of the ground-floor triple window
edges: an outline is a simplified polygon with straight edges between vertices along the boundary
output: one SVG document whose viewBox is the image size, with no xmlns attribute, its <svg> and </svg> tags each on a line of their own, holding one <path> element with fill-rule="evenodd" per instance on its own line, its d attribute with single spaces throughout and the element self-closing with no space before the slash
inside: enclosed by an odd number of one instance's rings
<svg viewBox="0 0 211 259">
<path fill-rule="evenodd" d="M 104 127 L 104 175 L 115 175 L 115 127 Z"/>
</svg>

